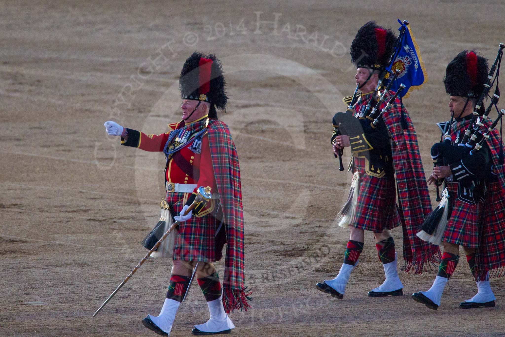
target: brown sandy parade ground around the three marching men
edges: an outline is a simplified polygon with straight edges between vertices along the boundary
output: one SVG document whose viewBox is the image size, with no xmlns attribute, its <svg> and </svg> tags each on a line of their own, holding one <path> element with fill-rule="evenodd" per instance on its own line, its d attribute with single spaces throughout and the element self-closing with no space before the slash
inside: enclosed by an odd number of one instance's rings
<svg viewBox="0 0 505 337">
<path fill-rule="evenodd" d="M 120 147 L 103 123 L 165 132 L 180 118 L 177 78 L 194 50 L 225 67 L 222 120 L 242 172 L 254 301 L 231 315 L 234 335 L 503 335 L 504 280 L 491 282 L 495 308 L 458 308 L 476 293 L 463 252 L 438 311 L 409 296 L 434 271 L 400 274 L 403 297 L 366 296 L 384 275 L 370 233 L 344 300 L 314 287 L 336 275 L 348 238 L 332 219 L 350 174 L 338 171 L 329 136 L 355 88 L 348 49 L 359 27 L 412 24 L 429 82 L 404 102 L 429 171 L 434 123 L 448 116 L 445 66 L 464 49 L 494 60 L 503 14 L 498 0 L 3 1 L 0 335 L 154 335 L 140 320 L 158 314 L 170 261 L 149 260 L 91 317 L 145 254 L 163 196 L 163 155 Z M 277 27 L 260 22 L 276 16 Z M 401 255 L 401 229 L 393 236 Z M 172 335 L 207 317 L 195 283 Z"/>
</svg>

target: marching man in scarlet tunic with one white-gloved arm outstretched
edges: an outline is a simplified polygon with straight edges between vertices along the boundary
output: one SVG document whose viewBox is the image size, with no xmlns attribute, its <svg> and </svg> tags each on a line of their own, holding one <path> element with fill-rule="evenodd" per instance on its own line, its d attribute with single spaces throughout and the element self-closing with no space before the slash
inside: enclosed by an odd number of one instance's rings
<svg viewBox="0 0 505 337">
<path fill-rule="evenodd" d="M 247 310 L 249 294 L 244 287 L 240 169 L 228 126 L 218 120 L 216 111 L 225 109 L 228 100 L 221 63 L 214 55 L 193 53 L 184 63 L 179 88 L 183 120 L 168 124 L 166 133 L 148 135 L 112 121 L 105 123 L 108 134 L 121 136 L 121 145 L 163 152 L 167 158 L 162 218 L 145 238 L 144 247 L 153 248 L 173 220 L 179 222 L 175 235 L 164 240 L 154 254 L 173 259 L 165 302 L 158 316 L 147 315 L 142 324 L 168 335 L 196 275 L 210 319 L 195 325 L 192 333 L 228 333 L 234 325 L 227 313 Z M 193 205 L 191 210 L 199 186 L 210 186 L 212 198 L 207 204 Z M 170 213 L 179 215 L 173 217 Z M 225 243 L 222 289 L 213 262 L 221 259 Z"/>
</svg>

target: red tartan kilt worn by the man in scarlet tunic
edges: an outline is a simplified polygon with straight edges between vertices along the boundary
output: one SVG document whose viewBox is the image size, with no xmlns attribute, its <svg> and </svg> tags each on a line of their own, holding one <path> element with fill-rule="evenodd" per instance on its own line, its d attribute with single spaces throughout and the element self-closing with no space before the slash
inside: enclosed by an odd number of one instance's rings
<svg viewBox="0 0 505 337">
<path fill-rule="evenodd" d="M 172 205 L 175 214 L 184 207 L 190 193 L 168 193 L 167 202 Z M 201 218 L 192 216 L 178 226 L 178 236 L 174 248 L 174 260 L 215 262 L 215 233 L 219 223 L 214 212 Z M 221 255 L 221 254 L 219 254 Z"/>
</svg>

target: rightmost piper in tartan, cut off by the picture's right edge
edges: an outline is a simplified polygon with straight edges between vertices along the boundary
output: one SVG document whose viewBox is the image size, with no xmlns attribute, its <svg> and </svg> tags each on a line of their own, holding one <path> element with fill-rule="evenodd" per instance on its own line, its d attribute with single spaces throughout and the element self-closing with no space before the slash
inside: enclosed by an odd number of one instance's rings
<svg viewBox="0 0 505 337">
<path fill-rule="evenodd" d="M 431 288 L 412 295 L 430 309 L 440 306 L 445 285 L 459 262 L 459 246 L 465 251 L 478 288 L 477 295 L 461 302 L 460 307 L 495 306 L 489 278 L 502 276 L 505 266 L 503 146 L 495 128 L 503 110 L 494 122 L 487 116 L 492 108 L 497 109 L 497 85 L 487 109 L 483 100 L 493 85 L 494 71 L 499 74 L 503 46 L 490 70 L 484 57 L 463 51 L 445 71 L 451 120 L 441 123 L 445 140 L 432 148 L 438 166 L 428 178 L 430 184 L 444 179 L 445 189 L 440 205 L 418 233 L 425 240 L 442 244 L 444 252 Z"/>
</svg>

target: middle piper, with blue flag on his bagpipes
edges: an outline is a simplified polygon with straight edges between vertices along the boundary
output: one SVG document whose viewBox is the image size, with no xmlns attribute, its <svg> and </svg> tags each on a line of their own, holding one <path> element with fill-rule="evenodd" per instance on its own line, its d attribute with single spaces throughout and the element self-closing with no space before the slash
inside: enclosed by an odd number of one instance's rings
<svg viewBox="0 0 505 337">
<path fill-rule="evenodd" d="M 374 234 L 386 278 L 368 293 L 370 297 L 403 295 L 390 229 L 403 226 L 406 261 L 403 270 L 421 273 L 430 262 L 437 261 L 439 254 L 438 247 L 416 236 L 415 229 L 430 213 L 431 203 L 414 126 L 397 97 L 398 92 L 389 91 L 398 72 L 389 77 L 386 88 L 381 86 L 388 73 L 386 68 L 390 68 L 396 50 L 401 47 L 398 41 L 400 37 L 396 39 L 391 30 L 373 21 L 359 29 L 350 56 L 357 67 L 355 79 L 362 93 L 357 102 L 356 94 L 351 102 L 344 99 L 350 103 L 347 112 L 337 113 L 333 118 L 334 154 L 340 156 L 342 149 L 350 147 L 352 155 L 349 198 L 337 217 L 340 226 L 349 228 L 350 239 L 338 275 L 316 287 L 338 299 L 343 298 L 351 271 L 358 264 L 365 230 Z M 396 188 L 400 209 L 395 203 Z"/>
</svg>

